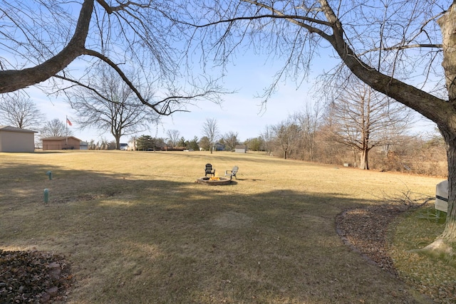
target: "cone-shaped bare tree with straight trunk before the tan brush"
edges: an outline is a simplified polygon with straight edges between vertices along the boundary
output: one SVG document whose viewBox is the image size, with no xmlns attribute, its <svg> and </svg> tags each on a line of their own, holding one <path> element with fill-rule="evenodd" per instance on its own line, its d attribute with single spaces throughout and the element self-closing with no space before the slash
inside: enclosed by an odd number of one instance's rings
<svg viewBox="0 0 456 304">
<path fill-rule="evenodd" d="M 333 121 L 333 140 L 360 152 L 359 169 L 369 169 L 369 151 L 397 143 L 411 116 L 405 105 L 352 81 L 329 104 L 327 120 Z"/>
</svg>

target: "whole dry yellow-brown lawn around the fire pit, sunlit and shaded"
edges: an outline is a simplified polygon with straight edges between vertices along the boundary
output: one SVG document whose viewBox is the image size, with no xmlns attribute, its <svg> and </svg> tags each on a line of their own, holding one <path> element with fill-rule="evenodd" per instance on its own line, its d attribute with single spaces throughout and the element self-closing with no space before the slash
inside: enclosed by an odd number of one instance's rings
<svg viewBox="0 0 456 304">
<path fill-rule="evenodd" d="M 196 183 L 207 162 L 238 179 Z M 65 255 L 69 303 L 427 303 L 334 219 L 433 196 L 441 178 L 229 152 L 2 153 L 0 167 L 0 249 Z"/>
</svg>

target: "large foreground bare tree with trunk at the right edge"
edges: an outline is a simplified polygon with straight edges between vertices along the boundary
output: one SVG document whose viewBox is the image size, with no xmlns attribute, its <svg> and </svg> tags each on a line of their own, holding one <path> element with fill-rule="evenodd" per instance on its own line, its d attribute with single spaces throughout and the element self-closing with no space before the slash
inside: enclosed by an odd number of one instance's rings
<svg viewBox="0 0 456 304">
<path fill-rule="evenodd" d="M 207 46 L 202 56 L 224 64 L 239 46 L 254 46 L 284 60 L 265 100 L 280 79 L 291 76 L 301 83 L 312 59 L 321 54 L 318 50 L 330 47 L 364 83 L 435 122 L 447 144 L 450 186 L 445 230 L 429 248 L 452 250 L 456 242 L 456 1 L 214 0 L 207 6 L 200 4 L 197 16 L 204 16 L 193 19 L 195 28 L 202 30 L 199 41 L 204 42 L 198 46 Z"/>
</svg>

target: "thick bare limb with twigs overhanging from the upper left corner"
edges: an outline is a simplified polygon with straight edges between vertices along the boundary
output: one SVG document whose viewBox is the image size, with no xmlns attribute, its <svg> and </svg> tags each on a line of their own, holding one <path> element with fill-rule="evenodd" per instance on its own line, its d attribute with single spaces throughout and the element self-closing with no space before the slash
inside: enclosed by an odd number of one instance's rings
<svg viewBox="0 0 456 304">
<path fill-rule="evenodd" d="M 0 93 L 46 80 L 52 80 L 46 82 L 47 93 L 72 85 L 95 90 L 90 70 L 105 66 L 160 115 L 185 111 L 200 99 L 218 103 L 222 90 L 214 80 L 192 75 L 190 69 L 180 77 L 182 53 L 177 45 L 182 28 L 172 18 L 179 5 L 148 0 L 1 1 Z M 135 78 L 126 70 L 135 70 Z M 151 96 L 143 90 L 152 85 L 160 90 Z"/>
</svg>

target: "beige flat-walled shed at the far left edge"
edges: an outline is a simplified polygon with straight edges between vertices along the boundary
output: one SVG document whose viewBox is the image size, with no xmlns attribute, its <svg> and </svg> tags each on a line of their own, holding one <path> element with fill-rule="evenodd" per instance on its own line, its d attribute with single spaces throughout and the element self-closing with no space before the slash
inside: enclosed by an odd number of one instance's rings
<svg viewBox="0 0 456 304">
<path fill-rule="evenodd" d="M 0 125 L 0 152 L 35 151 L 35 133 L 38 132 Z"/>
</svg>

